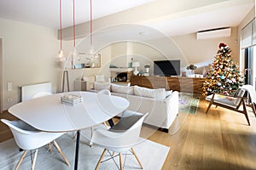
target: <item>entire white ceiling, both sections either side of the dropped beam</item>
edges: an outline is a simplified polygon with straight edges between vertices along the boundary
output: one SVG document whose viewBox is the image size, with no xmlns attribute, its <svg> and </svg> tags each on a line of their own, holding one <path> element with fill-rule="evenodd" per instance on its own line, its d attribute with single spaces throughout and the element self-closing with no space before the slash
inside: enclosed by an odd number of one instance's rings
<svg viewBox="0 0 256 170">
<path fill-rule="evenodd" d="M 179 2 L 180 0 L 173 1 Z M 200 0 L 193 1 L 195 3 L 203 2 Z M 75 0 L 76 24 L 89 20 L 89 2 L 90 0 Z M 129 8 L 136 8 L 140 5 L 155 2 L 163 3 L 167 1 L 93 0 L 93 18 L 101 18 Z M 190 10 L 157 16 L 143 21 L 142 24 L 152 26 L 167 35 L 178 36 L 208 29 L 238 26 L 254 6 L 254 0 L 226 0 L 222 2 L 216 0 L 215 2 L 217 3 L 204 5 L 201 8 L 191 8 Z M 148 8 L 148 10 L 151 10 L 151 8 Z M 0 18 L 58 29 L 59 0 L 1 0 Z M 62 0 L 62 27 L 72 25 L 73 0 Z"/>
</svg>

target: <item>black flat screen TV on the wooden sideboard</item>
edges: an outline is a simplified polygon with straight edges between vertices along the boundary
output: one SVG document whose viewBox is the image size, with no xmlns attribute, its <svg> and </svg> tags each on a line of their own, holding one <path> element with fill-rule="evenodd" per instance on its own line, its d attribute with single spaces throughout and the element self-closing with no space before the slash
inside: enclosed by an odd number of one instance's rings
<svg viewBox="0 0 256 170">
<path fill-rule="evenodd" d="M 154 61 L 154 76 L 170 77 L 180 75 L 180 60 Z"/>
</svg>

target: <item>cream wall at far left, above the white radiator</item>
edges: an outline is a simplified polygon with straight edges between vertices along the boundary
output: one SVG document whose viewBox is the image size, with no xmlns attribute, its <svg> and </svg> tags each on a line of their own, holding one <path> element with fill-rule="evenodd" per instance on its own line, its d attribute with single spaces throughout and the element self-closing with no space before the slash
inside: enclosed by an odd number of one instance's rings
<svg viewBox="0 0 256 170">
<path fill-rule="evenodd" d="M 61 82 L 61 71 L 55 67 L 59 49 L 56 31 L 2 19 L 0 28 L 3 38 L 3 111 L 19 101 L 20 85 L 52 82 L 55 93 Z M 7 82 L 13 83 L 12 91 L 7 91 Z"/>
</svg>

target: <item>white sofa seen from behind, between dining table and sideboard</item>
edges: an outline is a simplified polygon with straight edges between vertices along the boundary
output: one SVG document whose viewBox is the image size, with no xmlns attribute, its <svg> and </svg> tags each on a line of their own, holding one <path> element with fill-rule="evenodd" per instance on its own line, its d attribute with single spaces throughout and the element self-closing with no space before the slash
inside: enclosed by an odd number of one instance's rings
<svg viewBox="0 0 256 170">
<path fill-rule="evenodd" d="M 147 113 L 144 122 L 160 127 L 165 132 L 171 127 L 178 114 L 178 92 L 166 91 L 165 88 L 150 89 L 138 86 L 122 86 L 113 83 L 94 83 L 94 90 L 98 92 L 108 89 L 112 95 L 123 97 L 130 101 L 128 110 Z"/>
</svg>

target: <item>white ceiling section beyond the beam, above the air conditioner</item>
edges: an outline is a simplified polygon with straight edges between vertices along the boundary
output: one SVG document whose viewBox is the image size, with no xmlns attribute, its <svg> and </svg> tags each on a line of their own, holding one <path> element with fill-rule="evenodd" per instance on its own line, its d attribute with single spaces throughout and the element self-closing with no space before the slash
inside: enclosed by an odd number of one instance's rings
<svg viewBox="0 0 256 170">
<path fill-rule="evenodd" d="M 241 0 L 243 2 L 244 0 Z M 253 8 L 253 3 L 220 3 L 190 10 L 188 14 L 175 14 L 149 23 L 169 36 L 185 35 L 224 27 L 236 27 Z"/>
</svg>

